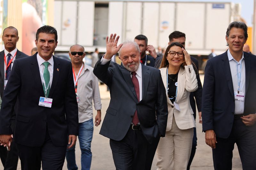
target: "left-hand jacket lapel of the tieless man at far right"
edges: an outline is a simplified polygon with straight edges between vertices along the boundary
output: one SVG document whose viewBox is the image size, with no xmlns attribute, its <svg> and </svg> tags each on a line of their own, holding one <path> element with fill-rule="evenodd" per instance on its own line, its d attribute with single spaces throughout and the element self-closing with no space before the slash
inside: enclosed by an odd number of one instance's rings
<svg viewBox="0 0 256 170">
<path fill-rule="evenodd" d="M 231 71 L 230 71 L 230 66 L 229 66 L 229 61 L 228 61 L 228 53 L 227 51 L 225 52 L 225 54 L 222 56 L 222 67 L 227 79 L 227 83 L 228 83 L 228 88 L 230 91 L 230 94 L 233 96 L 233 98 L 235 98 L 234 96 L 234 88 L 233 88 L 233 81 L 232 81 L 232 76 L 231 76 Z"/>
</svg>

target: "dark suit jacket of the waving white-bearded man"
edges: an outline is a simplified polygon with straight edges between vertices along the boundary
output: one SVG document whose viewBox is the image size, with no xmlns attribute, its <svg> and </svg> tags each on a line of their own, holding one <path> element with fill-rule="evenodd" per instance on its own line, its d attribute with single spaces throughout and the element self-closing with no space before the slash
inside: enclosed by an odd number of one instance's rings
<svg viewBox="0 0 256 170">
<path fill-rule="evenodd" d="M 141 130 L 149 143 L 165 135 L 168 108 L 160 70 L 142 67 L 142 100 L 138 102 L 130 72 L 119 64 L 96 63 L 93 73 L 110 89 L 110 103 L 100 134 L 120 141 L 126 135 L 137 109 Z M 157 108 L 157 109 L 156 109 Z"/>
</svg>

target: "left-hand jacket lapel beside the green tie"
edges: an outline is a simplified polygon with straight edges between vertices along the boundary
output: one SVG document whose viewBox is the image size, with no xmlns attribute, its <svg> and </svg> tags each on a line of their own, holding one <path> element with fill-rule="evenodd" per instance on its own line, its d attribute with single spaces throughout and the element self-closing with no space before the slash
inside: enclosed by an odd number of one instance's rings
<svg viewBox="0 0 256 170">
<path fill-rule="evenodd" d="M 43 90 L 43 85 L 42 85 L 42 80 L 41 80 L 41 75 L 40 75 L 40 72 L 39 72 L 39 67 L 38 67 L 38 62 L 37 62 L 37 59 L 36 59 L 36 55 L 33 55 L 32 56 L 32 62 L 31 62 L 31 65 L 30 65 L 30 69 L 31 69 L 31 73 L 33 75 L 33 78 L 35 80 L 35 83 L 36 83 L 36 88 L 38 89 L 40 95 L 42 97 L 44 97 L 44 90 Z"/>
</svg>

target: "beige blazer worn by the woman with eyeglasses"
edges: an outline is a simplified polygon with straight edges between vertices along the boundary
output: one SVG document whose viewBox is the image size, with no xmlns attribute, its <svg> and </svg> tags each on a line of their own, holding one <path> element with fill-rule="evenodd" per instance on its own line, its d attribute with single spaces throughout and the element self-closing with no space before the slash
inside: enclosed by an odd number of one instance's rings
<svg viewBox="0 0 256 170">
<path fill-rule="evenodd" d="M 172 128 L 172 116 L 175 117 L 175 122 L 179 129 L 190 129 L 196 127 L 196 122 L 193 116 L 193 110 L 189 102 L 190 92 L 194 92 L 197 89 L 197 79 L 196 73 L 193 69 L 192 64 L 185 66 L 185 70 L 180 67 L 178 74 L 178 91 L 177 91 L 177 100 L 176 103 L 179 104 L 180 111 L 175 108 L 167 94 L 167 77 L 166 77 L 167 68 L 161 68 L 160 72 L 164 82 L 164 87 L 167 97 L 168 105 L 168 120 L 166 131 L 171 130 Z"/>
</svg>

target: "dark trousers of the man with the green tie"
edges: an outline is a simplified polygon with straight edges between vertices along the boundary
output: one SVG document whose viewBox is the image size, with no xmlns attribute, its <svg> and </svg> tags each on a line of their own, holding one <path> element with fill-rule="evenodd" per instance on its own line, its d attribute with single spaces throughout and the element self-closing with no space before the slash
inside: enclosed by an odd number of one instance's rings
<svg viewBox="0 0 256 170">
<path fill-rule="evenodd" d="M 65 139 L 63 139 L 65 140 Z M 44 144 L 40 147 L 30 147 L 17 144 L 21 170 L 62 170 L 67 146 L 54 146 L 46 130 Z"/>
</svg>

